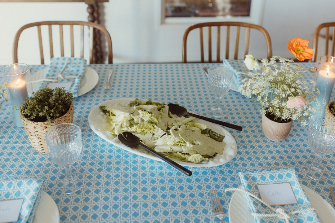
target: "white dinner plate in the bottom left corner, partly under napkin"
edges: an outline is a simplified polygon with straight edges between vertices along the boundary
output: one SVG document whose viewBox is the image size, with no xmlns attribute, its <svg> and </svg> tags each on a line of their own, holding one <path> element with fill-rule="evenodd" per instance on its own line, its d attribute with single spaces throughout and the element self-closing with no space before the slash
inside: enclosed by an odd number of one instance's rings
<svg viewBox="0 0 335 223">
<path fill-rule="evenodd" d="M 58 207 L 49 194 L 42 191 L 32 223 L 59 223 Z"/>
</svg>

